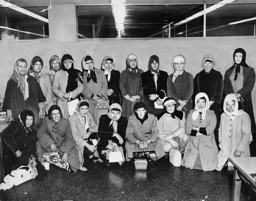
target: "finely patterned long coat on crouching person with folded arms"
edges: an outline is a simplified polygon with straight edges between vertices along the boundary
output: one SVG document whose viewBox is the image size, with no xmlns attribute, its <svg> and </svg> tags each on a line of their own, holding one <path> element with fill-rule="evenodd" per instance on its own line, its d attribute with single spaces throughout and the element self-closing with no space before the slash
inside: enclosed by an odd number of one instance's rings
<svg viewBox="0 0 256 201">
<path fill-rule="evenodd" d="M 202 120 L 200 114 L 198 114 L 196 120 L 193 120 L 192 114 L 194 111 L 196 110 L 190 110 L 188 113 L 185 123 L 186 134 L 190 135 L 192 126 L 197 126 L 205 128 L 207 135 L 189 136 L 181 165 L 193 169 L 197 155 L 199 154 L 203 170 L 215 170 L 218 162 L 218 147 L 214 139 L 214 128 L 217 123 L 216 115 L 213 110 L 208 109 L 206 110 L 204 120 Z"/>
</svg>

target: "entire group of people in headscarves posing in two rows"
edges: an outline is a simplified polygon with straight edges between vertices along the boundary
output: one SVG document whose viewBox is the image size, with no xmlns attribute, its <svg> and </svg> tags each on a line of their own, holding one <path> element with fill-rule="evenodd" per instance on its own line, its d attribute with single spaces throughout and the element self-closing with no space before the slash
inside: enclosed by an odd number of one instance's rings
<svg viewBox="0 0 256 201">
<path fill-rule="evenodd" d="M 130 54 L 121 74 L 110 55 L 101 69 L 84 56 L 83 72 L 74 68 L 71 55 L 54 55 L 46 74 L 39 56 L 30 67 L 19 59 L 2 107 L 6 121 L 16 120 L 2 131 L 5 174 L 30 165 L 44 175 L 50 163 L 85 171 L 85 157 L 110 165 L 111 151 L 122 153 L 122 165 L 141 153 L 158 160 L 176 149 L 184 153 L 181 165 L 204 171 L 221 170 L 228 157 L 250 156 L 249 142 L 256 134 L 255 72 L 245 58 L 244 49 L 237 48 L 224 80 L 213 69 L 211 54 L 203 57 L 203 70 L 195 78 L 185 71 L 182 55 L 173 57 L 175 71 L 169 76 L 159 69 L 156 55 L 143 72 Z M 67 103 L 75 99 L 76 111 L 69 116 Z M 106 100 L 109 107 L 96 107 Z"/>
</svg>

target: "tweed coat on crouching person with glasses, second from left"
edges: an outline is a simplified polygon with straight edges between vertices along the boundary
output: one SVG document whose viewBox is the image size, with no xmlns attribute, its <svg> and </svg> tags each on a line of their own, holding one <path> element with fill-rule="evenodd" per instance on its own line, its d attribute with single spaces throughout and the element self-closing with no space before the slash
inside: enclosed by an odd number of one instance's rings
<svg viewBox="0 0 256 201">
<path fill-rule="evenodd" d="M 54 143 L 61 155 L 68 154 L 68 163 L 71 169 L 76 172 L 79 168 L 79 159 L 67 119 L 60 117 L 60 121 L 55 126 L 53 120 L 49 120 L 48 117 L 44 118 L 37 132 L 37 138 L 36 154 L 40 162 L 42 162 L 44 153 L 50 152 L 50 145 Z"/>
</svg>

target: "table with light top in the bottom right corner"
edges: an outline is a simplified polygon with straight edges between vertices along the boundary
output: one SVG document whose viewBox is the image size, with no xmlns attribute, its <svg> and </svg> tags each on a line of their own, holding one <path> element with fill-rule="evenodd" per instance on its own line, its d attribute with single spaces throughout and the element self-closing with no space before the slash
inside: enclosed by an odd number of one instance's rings
<svg viewBox="0 0 256 201">
<path fill-rule="evenodd" d="M 256 174 L 256 157 L 232 157 L 229 161 L 234 165 L 232 201 L 240 200 L 241 179 L 256 192 L 255 177 L 250 175 Z"/>
</svg>

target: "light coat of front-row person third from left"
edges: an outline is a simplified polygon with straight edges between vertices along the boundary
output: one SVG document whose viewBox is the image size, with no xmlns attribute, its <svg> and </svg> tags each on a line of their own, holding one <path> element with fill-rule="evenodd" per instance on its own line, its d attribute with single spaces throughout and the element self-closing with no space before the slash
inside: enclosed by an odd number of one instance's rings
<svg viewBox="0 0 256 201">
<path fill-rule="evenodd" d="M 87 123 L 89 126 L 90 132 L 98 132 L 98 126 L 94 123 L 92 115 L 87 113 Z M 84 146 L 87 144 L 87 141 L 83 139 L 84 134 L 87 132 L 85 130 L 84 124 L 79 118 L 78 114 L 71 115 L 68 118 L 68 121 L 71 126 L 72 136 L 75 140 L 76 150 L 79 157 L 79 167 L 83 167 L 84 164 Z"/>
</svg>

